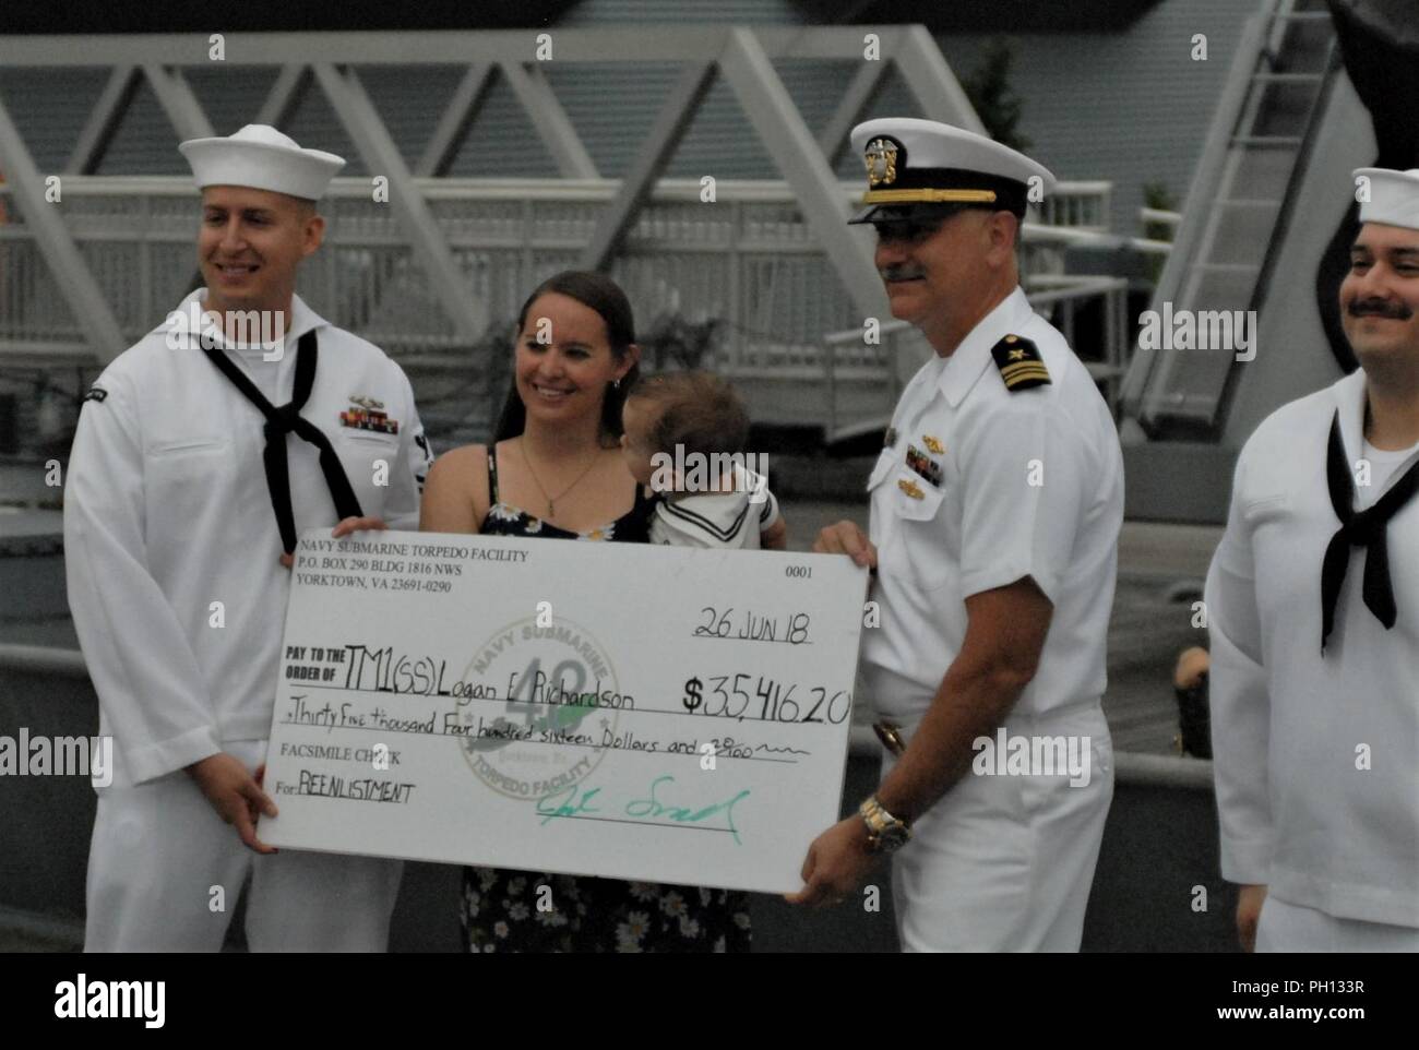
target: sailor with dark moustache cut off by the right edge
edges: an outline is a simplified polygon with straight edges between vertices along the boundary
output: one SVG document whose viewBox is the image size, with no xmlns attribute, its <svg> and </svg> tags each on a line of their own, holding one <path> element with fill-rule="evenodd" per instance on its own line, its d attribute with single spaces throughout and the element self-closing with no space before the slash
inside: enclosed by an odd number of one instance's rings
<svg viewBox="0 0 1419 1050">
<path fill-rule="evenodd" d="M 1354 175 L 1361 368 L 1247 440 L 1208 575 L 1222 875 L 1256 951 L 1419 951 L 1419 169 Z"/>
</svg>

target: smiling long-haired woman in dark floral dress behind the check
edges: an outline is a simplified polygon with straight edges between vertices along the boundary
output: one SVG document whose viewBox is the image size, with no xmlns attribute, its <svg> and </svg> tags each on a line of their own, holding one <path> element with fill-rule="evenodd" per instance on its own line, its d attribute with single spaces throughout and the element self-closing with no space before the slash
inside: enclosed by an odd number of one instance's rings
<svg viewBox="0 0 1419 1050">
<path fill-rule="evenodd" d="M 494 441 L 438 457 L 420 528 L 644 543 L 654 504 L 619 446 L 639 358 L 614 281 L 582 271 L 543 281 L 518 316 Z M 539 887 L 553 908 L 538 908 Z M 744 892 L 502 868 L 464 870 L 460 915 L 471 952 L 734 952 L 751 938 Z"/>
</svg>

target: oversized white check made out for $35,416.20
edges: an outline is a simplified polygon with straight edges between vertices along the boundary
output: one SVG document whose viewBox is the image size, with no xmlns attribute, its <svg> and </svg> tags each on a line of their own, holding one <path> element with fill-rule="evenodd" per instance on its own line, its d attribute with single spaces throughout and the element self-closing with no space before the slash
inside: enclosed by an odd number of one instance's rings
<svg viewBox="0 0 1419 1050">
<path fill-rule="evenodd" d="M 782 892 L 837 820 L 847 558 L 315 529 L 292 572 L 272 846 Z"/>
</svg>

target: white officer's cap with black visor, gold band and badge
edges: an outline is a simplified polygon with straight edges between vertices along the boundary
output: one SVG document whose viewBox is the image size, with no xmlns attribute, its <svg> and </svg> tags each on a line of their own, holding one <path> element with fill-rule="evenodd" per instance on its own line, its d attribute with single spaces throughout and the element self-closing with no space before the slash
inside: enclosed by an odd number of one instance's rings
<svg viewBox="0 0 1419 1050">
<path fill-rule="evenodd" d="M 853 128 L 853 152 L 867 167 L 868 207 L 854 223 L 885 221 L 931 204 L 1025 211 L 1032 182 L 1053 192 L 1042 163 L 985 135 L 938 121 L 887 116 Z"/>
</svg>

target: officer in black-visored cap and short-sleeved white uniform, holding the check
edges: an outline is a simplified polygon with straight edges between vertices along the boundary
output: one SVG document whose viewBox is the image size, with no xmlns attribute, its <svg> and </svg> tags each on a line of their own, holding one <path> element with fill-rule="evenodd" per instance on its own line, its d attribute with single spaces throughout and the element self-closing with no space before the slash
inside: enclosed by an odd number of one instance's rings
<svg viewBox="0 0 1419 1050">
<path fill-rule="evenodd" d="M 1027 197 L 1054 179 L 931 121 L 868 121 L 851 142 L 868 176 L 856 221 L 877 228 L 893 315 L 935 356 L 867 482 L 870 538 L 840 522 L 815 545 L 877 568 L 863 678 L 890 753 L 792 900 L 856 894 L 895 850 L 904 949 L 1077 951 L 1112 797 L 1100 700 L 1122 457 L 1084 365 L 1019 287 Z"/>
</svg>

